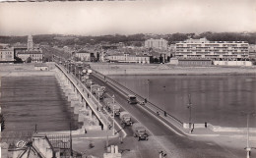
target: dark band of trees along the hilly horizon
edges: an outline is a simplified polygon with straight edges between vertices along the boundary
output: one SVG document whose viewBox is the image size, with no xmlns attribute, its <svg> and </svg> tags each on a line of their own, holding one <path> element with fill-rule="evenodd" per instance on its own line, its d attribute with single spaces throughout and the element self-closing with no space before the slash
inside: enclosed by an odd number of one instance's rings
<svg viewBox="0 0 256 158">
<path fill-rule="evenodd" d="M 256 32 L 254 33 L 242 33 L 242 32 L 202 32 L 200 34 L 195 33 L 173 33 L 165 35 L 147 35 L 143 33 L 132 35 L 100 35 L 100 36 L 78 36 L 78 35 L 60 35 L 60 34 L 40 34 L 33 35 L 34 43 L 47 43 L 50 45 L 86 45 L 86 44 L 98 44 L 98 43 L 119 43 L 122 42 L 125 45 L 142 46 L 144 41 L 148 38 L 164 38 L 168 41 L 168 44 L 173 44 L 176 41 L 183 41 L 188 38 L 202 38 L 206 37 L 212 41 L 248 41 L 250 44 L 256 42 Z M 28 36 L 0 36 L 0 43 L 27 43 Z"/>
</svg>

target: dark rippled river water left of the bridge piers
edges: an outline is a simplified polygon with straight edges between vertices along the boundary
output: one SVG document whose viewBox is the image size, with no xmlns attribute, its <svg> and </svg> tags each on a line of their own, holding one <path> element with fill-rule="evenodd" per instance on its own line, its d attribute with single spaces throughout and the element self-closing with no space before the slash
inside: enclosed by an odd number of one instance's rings
<svg viewBox="0 0 256 158">
<path fill-rule="evenodd" d="M 68 131 L 77 129 L 76 119 L 54 76 L 4 77 L 1 79 L 4 132 Z"/>
</svg>

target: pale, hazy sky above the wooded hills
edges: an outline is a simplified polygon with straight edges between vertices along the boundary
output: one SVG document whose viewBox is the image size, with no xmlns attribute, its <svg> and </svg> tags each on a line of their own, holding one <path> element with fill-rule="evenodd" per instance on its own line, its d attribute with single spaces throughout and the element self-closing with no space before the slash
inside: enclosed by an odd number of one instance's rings
<svg viewBox="0 0 256 158">
<path fill-rule="evenodd" d="M 0 35 L 256 31 L 256 0 L 0 3 Z"/>
</svg>

